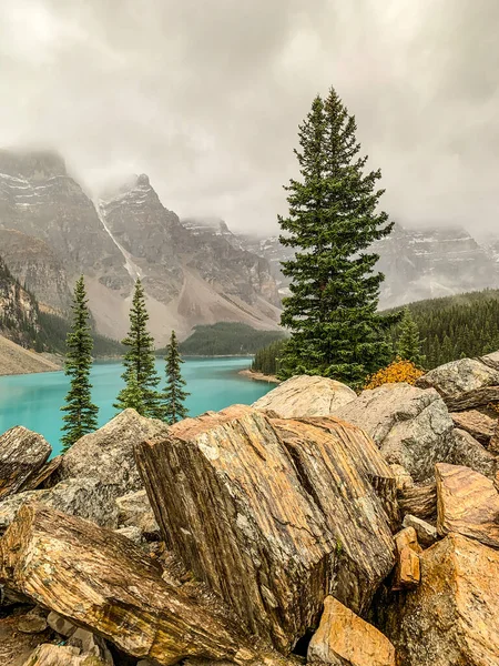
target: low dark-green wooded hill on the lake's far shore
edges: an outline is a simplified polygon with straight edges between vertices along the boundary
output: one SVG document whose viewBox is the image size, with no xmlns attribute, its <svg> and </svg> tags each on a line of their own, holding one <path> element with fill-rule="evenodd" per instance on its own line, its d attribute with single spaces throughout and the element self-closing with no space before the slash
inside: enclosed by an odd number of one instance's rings
<svg viewBox="0 0 499 666">
<path fill-rule="evenodd" d="M 213 325 L 198 325 L 192 335 L 180 344 L 180 351 L 186 356 L 223 356 L 254 354 L 283 337 L 281 331 L 256 331 L 247 324 L 218 322 Z M 156 354 L 163 354 L 157 350 Z"/>
</svg>

